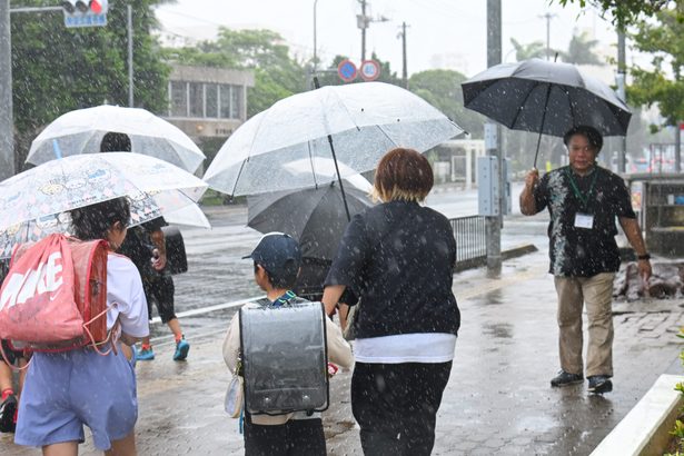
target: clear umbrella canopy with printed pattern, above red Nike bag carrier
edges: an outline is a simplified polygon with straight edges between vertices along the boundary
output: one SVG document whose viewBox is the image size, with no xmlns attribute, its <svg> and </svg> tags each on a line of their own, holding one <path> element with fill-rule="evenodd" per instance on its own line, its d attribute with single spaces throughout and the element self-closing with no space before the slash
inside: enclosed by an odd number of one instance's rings
<svg viewBox="0 0 684 456">
<path fill-rule="evenodd" d="M 69 229 L 67 211 L 127 196 L 130 225 L 195 205 L 207 185 L 153 157 L 88 153 L 40 165 L 0 182 L 0 258 L 17 242 Z"/>
</svg>

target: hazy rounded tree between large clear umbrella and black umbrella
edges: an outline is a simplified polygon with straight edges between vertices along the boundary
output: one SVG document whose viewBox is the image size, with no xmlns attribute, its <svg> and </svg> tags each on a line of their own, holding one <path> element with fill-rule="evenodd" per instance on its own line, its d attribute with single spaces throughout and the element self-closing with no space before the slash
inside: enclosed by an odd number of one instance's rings
<svg viewBox="0 0 684 456">
<path fill-rule="evenodd" d="M 444 112 L 466 131 L 482 138 L 485 118 L 463 106 L 460 83 L 467 78 L 453 70 L 427 70 L 413 73 L 408 80 L 412 92 Z"/>
</svg>

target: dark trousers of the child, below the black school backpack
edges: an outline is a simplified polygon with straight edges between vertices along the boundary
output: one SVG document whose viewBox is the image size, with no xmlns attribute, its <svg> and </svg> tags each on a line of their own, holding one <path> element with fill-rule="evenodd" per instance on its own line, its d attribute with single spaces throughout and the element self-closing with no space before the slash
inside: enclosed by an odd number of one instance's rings
<svg viewBox="0 0 684 456">
<path fill-rule="evenodd" d="M 290 419 L 284 425 L 261 426 L 245 416 L 245 456 L 325 456 L 323 420 Z"/>
</svg>

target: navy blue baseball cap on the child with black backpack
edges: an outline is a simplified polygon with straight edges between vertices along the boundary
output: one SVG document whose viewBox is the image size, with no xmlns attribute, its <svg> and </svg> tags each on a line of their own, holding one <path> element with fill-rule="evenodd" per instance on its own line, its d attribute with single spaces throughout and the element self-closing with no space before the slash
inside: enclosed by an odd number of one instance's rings
<svg viewBox="0 0 684 456">
<path fill-rule="evenodd" d="M 251 258 L 261 265 L 270 275 L 288 277 L 299 270 L 301 250 L 299 242 L 282 232 L 268 232 L 261 237 L 257 247 L 245 258 Z"/>
</svg>

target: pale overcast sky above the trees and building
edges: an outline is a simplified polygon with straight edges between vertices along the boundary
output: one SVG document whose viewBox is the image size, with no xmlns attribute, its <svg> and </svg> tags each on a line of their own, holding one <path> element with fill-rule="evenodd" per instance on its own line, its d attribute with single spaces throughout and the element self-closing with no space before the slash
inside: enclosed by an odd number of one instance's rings
<svg viewBox="0 0 684 456">
<path fill-rule="evenodd" d="M 548 0 L 502 0 L 503 60 L 515 61 L 510 37 L 521 43 L 546 42 L 543 17 L 549 22 L 551 48 L 567 49 L 573 30 L 587 31 L 601 41 L 597 49 L 615 54 L 616 33 L 595 10 L 577 6 L 549 6 Z M 366 58 L 375 51 L 391 70 L 402 73 L 402 23 L 407 31 L 408 73 L 445 68 L 470 77 L 486 69 L 486 0 L 367 0 L 366 14 L 377 21 L 366 30 Z M 265 28 L 279 32 L 299 59 L 314 54 L 316 10 L 317 54 L 328 65 L 337 54 L 349 56 L 358 67 L 361 33 L 356 16 L 359 0 L 176 0 L 157 9 L 167 44 L 212 39 L 219 26 L 231 29 Z M 386 19 L 380 21 L 379 19 Z M 602 79 L 613 79 L 604 68 Z M 613 82 L 606 80 L 606 82 Z"/>
</svg>

